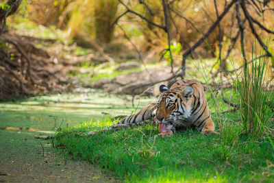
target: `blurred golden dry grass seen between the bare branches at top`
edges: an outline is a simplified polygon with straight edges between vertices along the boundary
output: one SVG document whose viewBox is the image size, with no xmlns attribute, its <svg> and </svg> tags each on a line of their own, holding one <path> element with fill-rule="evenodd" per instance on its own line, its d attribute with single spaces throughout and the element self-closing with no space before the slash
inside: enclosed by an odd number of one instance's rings
<svg viewBox="0 0 274 183">
<path fill-rule="evenodd" d="M 170 2 L 170 1 L 169 1 Z M 219 14 L 229 1 L 217 1 Z M 140 1 L 125 1 L 129 8 L 145 16 L 150 21 L 164 24 L 164 14 L 162 10 L 162 1 L 149 0 L 145 3 L 149 6 L 152 14 L 146 6 Z M 182 51 L 188 49 L 195 41 L 205 33 L 210 25 L 216 20 L 214 1 L 174 1 L 170 4 L 174 12 L 174 22 L 170 22 L 172 42 L 180 42 Z M 272 11 L 265 11 L 264 14 L 257 14 L 256 9 L 249 7 L 249 14 L 255 15 L 265 27 L 273 29 L 274 14 Z M 123 5 L 118 0 L 32 0 L 23 1 L 21 12 L 25 18 L 37 23 L 38 25 L 54 26 L 65 30 L 69 38 L 79 38 L 81 36 L 90 36 L 97 40 L 98 44 L 111 42 L 123 32 L 117 26 L 110 28 L 116 17 L 125 12 Z M 179 15 L 184 16 L 184 19 Z M 18 16 L 18 15 L 17 15 Z M 167 45 L 166 34 L 164 30 L 158 29 L 134 14 L 126 14 L 119 21 L 119 25 L 125 29 L 127 36 L 132 38 L 141 51 L 156 49 L 158 53 Z M 195 25 L 195 26 L 193 26 Z M 229 46 L 230 38 L 235 36 L 238 25 L 236 23 L 236 11 L 231 10 L 221 21 L 221 33 L 223 34 L 223 48 Z M 269 34 L 262 29 L 258 29 L 258 34 L 262 38 L 269 38 Z M 247 51 L 251 51 L 254 38 L 250 29 L 245 29 L 245 45 Z M 203 42 L 197 53 L 202 58 L 212 58 L 218 55 L 218 29 Z M 236 47 L 239 48 L 237 42 Z M 272 45 L 271 45 L 272 46 Z M 273 49 L 273 47 L 271 47 Z M 234 51 L 233 56 L 239 55 Z"/>
</svg>

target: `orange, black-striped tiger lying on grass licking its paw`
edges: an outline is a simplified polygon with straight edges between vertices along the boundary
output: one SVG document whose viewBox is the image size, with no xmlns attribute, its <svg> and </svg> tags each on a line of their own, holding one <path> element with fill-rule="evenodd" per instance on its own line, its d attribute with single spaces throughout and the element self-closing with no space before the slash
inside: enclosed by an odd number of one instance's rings
<svg viewBox="0 0 274 183">
<path fill-rule="evenodd" d="M 91 131 L 88 135 L 108 130 L 120 130 L 136 125 L 158 125 L 158 136 L 173 136 L 188 127 L 195 127 L 201 134 L 219 134 L 210 116 L 203 85 L 198 80 L 179 80 L 171 88 L 161 85 L 158 101 L 152 101 L 136 114 L 121 119 L 103 130 Z"/>
</svg>

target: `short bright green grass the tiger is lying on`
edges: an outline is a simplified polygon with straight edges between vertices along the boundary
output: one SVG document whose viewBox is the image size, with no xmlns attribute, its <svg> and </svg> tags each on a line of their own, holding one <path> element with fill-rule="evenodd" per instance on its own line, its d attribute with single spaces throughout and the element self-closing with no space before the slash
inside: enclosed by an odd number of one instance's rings
<svg viewBox="0 0 274 183">
<path fill-rule="evenodd" d="M 209 96 L 208 100 L 214 111 L 214 102 Z M 220 106 L 227 108 L 221 101 Z M 214 113 L 212 118 L 216 121 Z M 89 130 L 115 123 L 101 118 L 61 130 L 55 147 L 125 182 L 273 182 L 273 136 L 257 140 L 243 136 L 237 112 L 221 118 L 227 123 L 224 129 L 236 131 L 235 136 L 186 130 L 171 138 L 154 138 L 158 129 L 153 125 L 85 136 Z"/>
</svg>

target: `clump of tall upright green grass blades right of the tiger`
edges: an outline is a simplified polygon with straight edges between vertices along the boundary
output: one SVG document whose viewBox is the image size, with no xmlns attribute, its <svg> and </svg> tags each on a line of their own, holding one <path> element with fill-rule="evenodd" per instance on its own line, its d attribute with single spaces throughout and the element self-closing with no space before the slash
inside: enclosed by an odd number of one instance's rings
<svg viewBox="0 0 274 183">
<path fill-rule="evenodd" d="M 243 59 L 243 69 L 236 75 L 236 92 L 239 95 L 242 127 L 245 134 L 253 138 L 262 136 L 271 119 L 269 106 L 273 91 L 269 90 L 271 80 L 266 82 L 266 56 L 253 58 L 251 65 Z"/>
</svg>

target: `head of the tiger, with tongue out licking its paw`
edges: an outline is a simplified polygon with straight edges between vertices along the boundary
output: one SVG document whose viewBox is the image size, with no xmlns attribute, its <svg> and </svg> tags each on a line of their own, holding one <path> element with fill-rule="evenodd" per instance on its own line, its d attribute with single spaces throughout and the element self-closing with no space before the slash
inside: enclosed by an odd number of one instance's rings
<svg viewBox="0 0 274 183">
<path fill-rule="evenodd" d="M 167 86 L 161 85 L 160 92 L 155 121 L 162 124 L 166 130 L 175 130 L 175 126 L 180 125 L 191 115 L 192 106 L 195 102 L 193 88 L 184 86 L 183 88 L 169 90 Z"/>
</svg>

